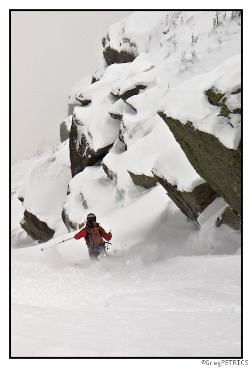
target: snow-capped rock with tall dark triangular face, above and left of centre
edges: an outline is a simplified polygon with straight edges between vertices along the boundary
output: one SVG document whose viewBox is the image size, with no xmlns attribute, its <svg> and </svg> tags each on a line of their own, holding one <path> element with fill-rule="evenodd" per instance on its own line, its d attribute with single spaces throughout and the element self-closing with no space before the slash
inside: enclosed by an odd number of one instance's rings
<svg viewBox="0 0 252 368">
<path fill-rule="evenodd" d="M 77 98 L 85 102 L 74 108 L 69 134 L 72 176 L 86 166 L 101 160 L 118 138 L 119 123 L 111 117 L 109 109 L 117 100 L 110 93 L 123 64 L 106 69 L 103 78 L 81 91 Z"/>
</svg>

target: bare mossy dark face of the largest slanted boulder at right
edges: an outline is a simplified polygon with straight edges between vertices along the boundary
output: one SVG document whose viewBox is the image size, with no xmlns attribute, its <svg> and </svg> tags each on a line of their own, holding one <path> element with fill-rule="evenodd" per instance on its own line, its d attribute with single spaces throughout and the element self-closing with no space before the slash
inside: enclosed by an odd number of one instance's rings
<svg viewBox="0 0 252 368">
<path fill-rule="evenodd" d="M 159 115 L 179 142 L 197 173 L 221 195 L 237 213 L 241 213 L 241 147 L 229 149 L 212 134 L 195 129 L 188 121 Z"/>
</svg>

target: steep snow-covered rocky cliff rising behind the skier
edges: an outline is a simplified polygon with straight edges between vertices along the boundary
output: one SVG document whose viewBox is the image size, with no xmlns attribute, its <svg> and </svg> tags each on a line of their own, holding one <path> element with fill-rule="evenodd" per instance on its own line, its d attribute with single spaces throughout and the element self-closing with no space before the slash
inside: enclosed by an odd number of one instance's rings
<svg viewBox="0 0 252 368">
<path fill-rule="evenodd" d="M 98 69 L 73 89 L 61 126 L 72 179 L 59 207 L 69 231 L 89 212 L 125 208 L 160 185 L 197 226 L 222 197 L 216 226 L 240 228 L 240 19 L 144 11 L 109 29 Z M 22 197 L 25 207 L 29 193 Z M 45 222 L 30 202 L 25 209 Z"/>
</svg>

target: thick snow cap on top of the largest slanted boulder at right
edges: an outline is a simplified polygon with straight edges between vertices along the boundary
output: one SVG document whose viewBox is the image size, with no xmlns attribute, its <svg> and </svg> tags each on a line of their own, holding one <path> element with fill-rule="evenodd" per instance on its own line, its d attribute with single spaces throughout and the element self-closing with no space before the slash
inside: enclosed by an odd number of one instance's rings
<svg viewBox="0 0 252 368">
<path fill-rule="evenodd" d="M 218 116 L 220 109 L 209 104 L 204 92 L 214 87 L 223 94 L 230 94 L 240 83 L 241 55 L 237 54 L 210 72 L 175 87 L 160 105 L 160 111 L 182 124 L 190 121 L 196 129 L 216 136 L 226 147 L 237 149 L 241 136 L 239 119 L 234 118 L 231 126 L 228 118 Z M 234 107 L 237 107 L 236 102 Z"/>
</svg>

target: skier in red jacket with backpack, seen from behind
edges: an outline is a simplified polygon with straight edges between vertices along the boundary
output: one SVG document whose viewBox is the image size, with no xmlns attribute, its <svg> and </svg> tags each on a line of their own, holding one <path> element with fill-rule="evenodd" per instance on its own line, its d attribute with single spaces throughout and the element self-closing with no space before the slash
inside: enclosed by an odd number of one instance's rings
<svg viewBox="0 0 252 368">
<path fill-rule="evenodd" d="M 80 239 L 81 237 L 84 237 L 86 240 L 91 261 L 97 261 L 97 257 L 100 253 L 105 254 L 103 238 L 108 241 L 112 238 L 112 234 L 111 232 L 106 233 L 100 224 L 97 224 L 96 216 L 93 213 L 89 213 L 85 228 L 81 229 L 81 231 L 74 236 L 74 239 Z"/>
</svg>

